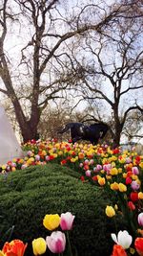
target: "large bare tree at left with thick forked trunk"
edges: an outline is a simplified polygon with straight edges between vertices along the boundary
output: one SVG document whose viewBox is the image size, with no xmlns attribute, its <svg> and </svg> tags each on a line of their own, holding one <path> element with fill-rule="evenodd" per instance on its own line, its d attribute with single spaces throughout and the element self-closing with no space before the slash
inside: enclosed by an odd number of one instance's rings
<svg viewBox="0 0 143 256">
<path fill-rule="evenodd" d="M 70 18 L 58 0 L 3 0 L 1 3 L 0 77 L 3 84 L 0 92 L 10 98 L 24 142 L 36 137 L 41 113 L 48 103 L 62 97 L 59 92 L 64 92 L 75 80 L 70 70 L 65 72 L 69 62 L 66 59 L 72 61 L 66 50 L 70 38 L 83 37 L 87 31 L 100 33 L 101 28 L 120 13 L 119 7 L 107 12 L 103 5 L 82 3 L 82 8 L 76 6 L 75 13 L 73 10 L 71 15 L 68 13 Z M 88 7 L 92 17 L 97 17 L 93 23 L 85 15 Z M 15 28 L 15 22 L 19 24 L 20 36 L 23 35 L 22 58 L 16 67 L 17 59 L 11 60 L 10 53 L 5 51 L 9 28 Z M 29 108 L 29 115 L 23 105 Z"/>
</svg>

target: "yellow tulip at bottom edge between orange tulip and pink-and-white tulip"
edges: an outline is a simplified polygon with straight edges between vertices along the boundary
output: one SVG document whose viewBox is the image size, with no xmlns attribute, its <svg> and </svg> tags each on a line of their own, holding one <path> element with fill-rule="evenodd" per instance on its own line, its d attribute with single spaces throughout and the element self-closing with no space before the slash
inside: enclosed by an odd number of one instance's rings
<svg viewBox="0 0 143 256">
<path fill-rule="evenodd" d="M 41 255 L 46 252 L 47 244 L 44 238 L 37 238 L 32 241 L 34 255 Z"/>
</svg>

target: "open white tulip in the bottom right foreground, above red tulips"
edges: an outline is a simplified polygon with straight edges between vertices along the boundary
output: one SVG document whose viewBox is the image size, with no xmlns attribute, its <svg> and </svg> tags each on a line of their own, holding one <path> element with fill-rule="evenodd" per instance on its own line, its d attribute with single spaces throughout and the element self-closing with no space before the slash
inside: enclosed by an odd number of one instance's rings
<svg viewBox="0 0 143 256">
<path fill-rule="evenodd" d="M 133 237 L 129 235 L 127 230 L 119 231 L 117 236 L 115 234 L 111 234 L 112 240 L 121 245 L 124 249 L 128 249 L 130 245 L 133 243 Z"/>
</svg>

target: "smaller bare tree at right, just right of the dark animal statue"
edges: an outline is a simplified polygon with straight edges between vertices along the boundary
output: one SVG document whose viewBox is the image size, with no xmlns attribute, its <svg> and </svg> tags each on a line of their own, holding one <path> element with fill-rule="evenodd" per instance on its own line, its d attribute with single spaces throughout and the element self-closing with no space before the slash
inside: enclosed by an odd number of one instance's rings
<svg viewBox="0 0 143 256">
<path fill-rule="evenodd" d="M 112 120 L 115 145 L 127 128 L 128 117 L 134 111 L 143 114 L 143 12 L 138 5 L 128 7 L 129 12 L 122 12 L 112 27 L 102 28 L 98 35 L 89 33 L 72 51 L 80 93 L 92 108 L 102 102 L 100 119 L 106 115 L 105 120 Z"/>
</svg>

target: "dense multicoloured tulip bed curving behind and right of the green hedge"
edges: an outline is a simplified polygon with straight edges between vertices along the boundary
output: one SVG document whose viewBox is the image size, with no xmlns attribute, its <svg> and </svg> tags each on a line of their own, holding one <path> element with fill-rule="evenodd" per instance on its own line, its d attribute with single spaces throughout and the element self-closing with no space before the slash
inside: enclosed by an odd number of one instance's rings
<svg viewBox="0 0 143 256">
<path fill-rule="evenodd" d="M 24 169 L 31 165 L 45 165 L 57 162 L 70 166 L 81 173 L 83 182 L 100 186 L 112 198 L 105 214 L 115 220 L 120 215 L 127 221 L 128 231 L 119 231 L 112 256 L 133 253 L 143 255 L 143 156 L 133 151 L 112 150 L 108 145 L 74 145 L 57 141 L 31 141 L 24 145 L 27 155 L 23 159 L 13 159 L 2 166 L 2 173 Z M 113 197 L 112 197 L 113 196 Z M 121 241 L 130 238 L 128 246 Z"/>
</svg>

